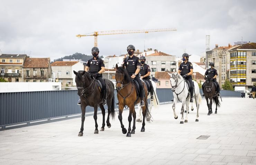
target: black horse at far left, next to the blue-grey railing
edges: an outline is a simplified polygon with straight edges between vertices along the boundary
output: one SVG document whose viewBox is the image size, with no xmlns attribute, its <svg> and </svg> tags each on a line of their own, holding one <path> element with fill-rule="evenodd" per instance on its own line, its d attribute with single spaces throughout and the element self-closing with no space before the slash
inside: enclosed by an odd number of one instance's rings
<svg viewBox="0 0 256 165">
<path fill-rule="evenodd" d="M 101 109 L 103 120 L 102 120 L 102 127 L 100 131 L 104 131 L 105 126 L 105 109 L 102 105 L 103 97 L 100 91 L 100 88 L 97 85 L 97 82 L 90 73 L 85 71 L 78 71 L 75 72 L 75 83 L 77 87 L 77 94 L 80 96 L 81 99 L 81 110 L 82 110 L 82 124 L 81 129 L 78 136 L 83 136 L 84 130 L 84 120 L 85 120 L 85 108 L 86 106 L 94 107 L 94 121 L 95 121 L 95 131 L 94 134 L 98 134 L 98 124 L 97 124 L 97 111 L 98 106 Z M 107 105 L 108 105 L 108 118 L 107 118 L 107 126 L 110 128 L 111 124 L 109 122 L 109 115 L 111 115 L 112 119 L 115 118 L 115 96 L 114 96 L 114 84 L 108 80 L 103 79 L 106 82 L 107 87 Z"/>
</svg>

